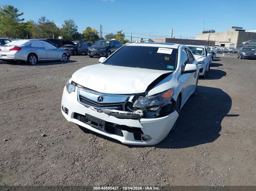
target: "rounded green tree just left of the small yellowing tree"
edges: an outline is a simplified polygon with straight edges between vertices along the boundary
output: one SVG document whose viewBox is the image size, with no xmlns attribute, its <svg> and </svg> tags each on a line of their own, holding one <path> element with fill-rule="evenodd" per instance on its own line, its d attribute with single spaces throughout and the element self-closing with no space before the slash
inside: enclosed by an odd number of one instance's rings
<svg viewBox="0 0 256 191">
<path fill-rule="evenodd" d="M 79 36 L 77 29 L 78 27 L 76 26 L 75 21 L 73 19 L 68 19 L 62 24 L 60 33 L 63 36 L 63 39 L 76 40 Z"/>
</svg>

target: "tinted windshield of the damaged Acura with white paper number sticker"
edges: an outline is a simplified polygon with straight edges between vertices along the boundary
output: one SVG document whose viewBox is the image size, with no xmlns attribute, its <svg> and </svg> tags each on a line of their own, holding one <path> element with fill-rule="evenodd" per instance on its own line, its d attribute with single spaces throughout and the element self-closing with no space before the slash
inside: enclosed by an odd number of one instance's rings
<svg viewBox="0 0 256 191">
<path fill-rule="evenodd" d="M 177 66 L 178 49 L 151 46 L 124 46 L 104 64 L 132 68 L 173 71 Z"/>
</svg>

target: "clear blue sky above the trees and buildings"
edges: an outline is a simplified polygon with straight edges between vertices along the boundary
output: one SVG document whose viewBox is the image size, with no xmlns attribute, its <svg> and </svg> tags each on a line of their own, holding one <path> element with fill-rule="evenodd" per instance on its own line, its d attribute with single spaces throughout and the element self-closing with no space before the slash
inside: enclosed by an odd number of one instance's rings
<svg viewBox="0 0 256 191">
<path fill-rule="evenodd" d="M 175 38 L 194 38 L 203 27 L 216 32 L 223 32 L 228 26 L 256 29 L 255 0 L 1 0 L 0 5 L 18 8 L 24 12 L 25 21 L 45 16 L 61 27 L 70 18 L 79 32 L 88 26 L 99 30 L 102 24 L 103 33 L 123 30 L 126 36 L 133 33 L 133 37 L 140 38 L 169 37 L 171 29 Z M 243 16 L 244 11 L 247 16 Z"/>
</svg>

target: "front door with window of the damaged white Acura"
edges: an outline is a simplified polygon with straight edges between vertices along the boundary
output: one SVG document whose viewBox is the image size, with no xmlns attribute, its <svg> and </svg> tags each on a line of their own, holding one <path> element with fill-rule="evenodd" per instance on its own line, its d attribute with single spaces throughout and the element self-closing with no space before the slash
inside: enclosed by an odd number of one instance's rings
<svg viewBox="0 0 256 191">
<path fill-rule="evenodd" d="M 183 88 L 181 105 L 183 105 L 186 102 L 191 92 L 194 90 L 194 86 L 192 86 L 191 84 L 195 84 L 194 73 L 196 72 L 187 74 L 184 73 L 185 66 L 189 63 L 190 61 L 188 58 L 188 54 L 186 52 L 186 49 L 183 48 L 181 52 L 181 83 Z"/>
</svg>

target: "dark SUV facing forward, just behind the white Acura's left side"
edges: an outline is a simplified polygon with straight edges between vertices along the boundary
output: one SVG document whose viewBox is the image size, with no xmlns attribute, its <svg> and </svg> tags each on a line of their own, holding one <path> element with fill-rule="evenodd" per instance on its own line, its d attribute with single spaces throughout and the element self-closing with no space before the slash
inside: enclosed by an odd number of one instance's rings
<svg viewBox="0 0 256 191">
<path fill-rule="evenodd" d="M 99 40 L 90 48 L 88 48 L 89 57 L 105 56 L 108 58 L 112 53 L 122 47 L 122 43 L 118 40 Z"/>
</svg>

